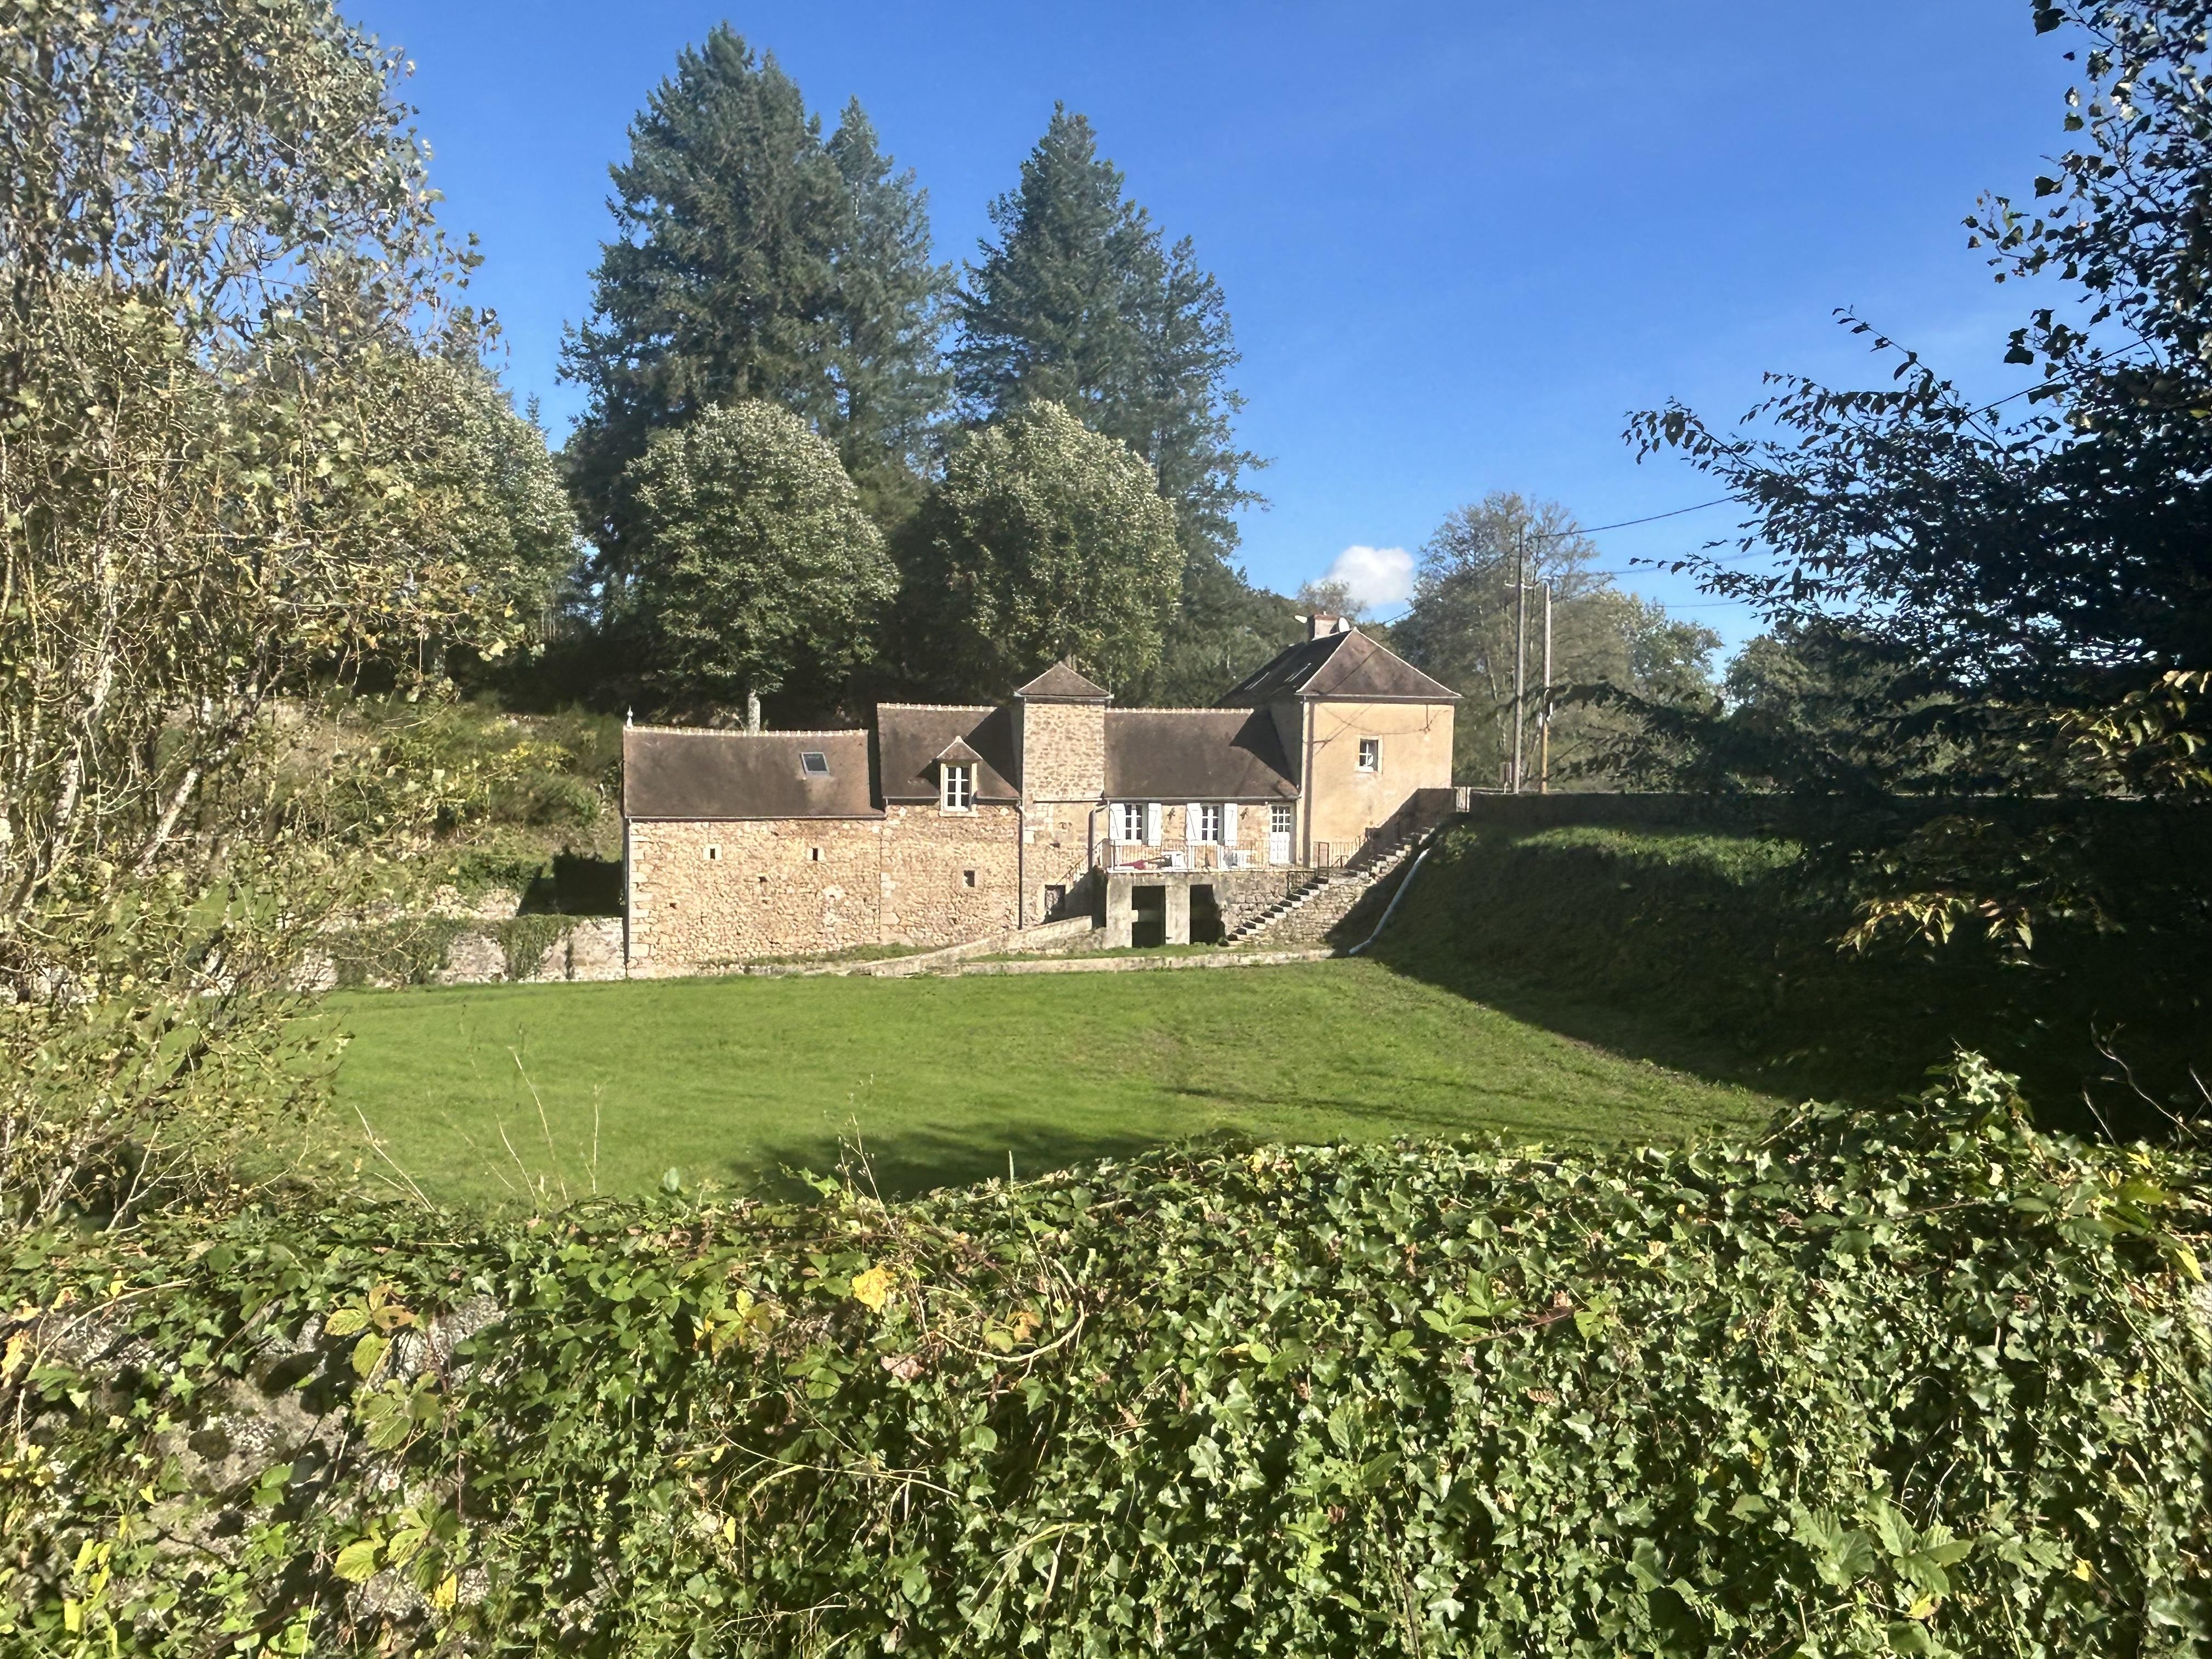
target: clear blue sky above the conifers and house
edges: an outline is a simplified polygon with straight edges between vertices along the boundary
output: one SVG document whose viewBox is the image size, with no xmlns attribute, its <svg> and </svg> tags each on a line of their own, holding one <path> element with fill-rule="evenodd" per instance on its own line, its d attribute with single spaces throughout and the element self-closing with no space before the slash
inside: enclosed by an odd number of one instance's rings
<svg viewBox="0 0 2212 1659">
<path fill-rule="evenodd" d="M 2028 0 L 1803 4 L 863 4 L 352 0 L 416 64 L 447 195 L 482 239 L 478 303 L 555 440 L 577 411 L 560 332 L 608 232 L 606 166 L 677 51 L 717 20 L 830 119 L 849 95 L 967 259 L 1053 100 L 1091 115 L 1130 195 L 1219 274 L 1245 361 L 1241 436 L 1272 458 L 1243 560 L 1265 586 L 1345 549 L 1418 549 L 1491 489 L 1586 524 L 1703 502 L 1637 465 L 1624 416 L 1734 416 L 1763 369 L 1882 376 L 1849 305 L 1964 385 L 2026 296 L 1960 219 L 2026 195 L 2066 64 Z M 1725 511 L 1601 538 L 1606 564 L 1721 535 Z M 1387 562 L 1385 562 L 1387 564 Z M 1624 586 L 1750 633 L 1688 582 Z"/>
</svg>

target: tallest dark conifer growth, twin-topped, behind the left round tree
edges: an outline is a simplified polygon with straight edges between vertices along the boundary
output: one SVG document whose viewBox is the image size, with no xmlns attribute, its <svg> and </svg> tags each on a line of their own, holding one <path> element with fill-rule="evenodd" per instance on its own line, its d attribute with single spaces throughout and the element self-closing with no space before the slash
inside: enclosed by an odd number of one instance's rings
<svg viewBox="0 0 2212 1659">
<path fill-rule="evenodd" d="M 927 201 L 894 173 L 858 104 L 825 142 L 774 58 L 728 27 L 686 49 L 613 170 L 615 239 L 564 347 L 588 407 L 571 482 L 602 575 L 626 571 L 624 469 L 664 427 L 765 398 L 838 449 L 867 500 L 898 511 L 942 403 Z"/>
</svg>

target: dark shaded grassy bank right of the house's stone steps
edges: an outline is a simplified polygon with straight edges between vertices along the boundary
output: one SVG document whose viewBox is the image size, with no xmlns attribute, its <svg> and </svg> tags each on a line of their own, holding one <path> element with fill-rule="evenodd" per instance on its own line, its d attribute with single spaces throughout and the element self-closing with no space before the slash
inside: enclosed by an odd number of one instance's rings
<svg viewBox="0 0 2212 1659">
<path fill-rule="evenodd" d="M 1982 942 L 1836 940 L 1847 869 L 1785 838 L 1506 825 L 1447 834 L 1376 956 L 1546 1029 L 1781 1095 L 1889 1099 L 1953 1048 L 2028 1079 L 2037 1108 L 2154 1126 L 2119 1066 L 2188 1106 L 2212 982 L 2194 911 L 2143 878 L 2112 883 L 2115 927 L 2051 929 L 2028 964 Z"/>
</svg>

